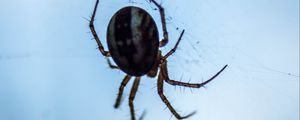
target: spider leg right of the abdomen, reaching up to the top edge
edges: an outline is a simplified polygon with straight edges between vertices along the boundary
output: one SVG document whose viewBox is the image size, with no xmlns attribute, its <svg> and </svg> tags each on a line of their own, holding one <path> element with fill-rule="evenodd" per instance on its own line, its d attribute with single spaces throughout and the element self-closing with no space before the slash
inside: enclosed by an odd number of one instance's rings
<svg viewBox="0 0 300 120">
<path fill-rule="evenodd" d="M 161 22 L 162 22 L 162 29 L 163 29 L 163 32 L 164 32 L 164 38 L 160 41 L 159 46 L 163 47 L 169 41 L 168 31 L 167 31 L 167 27 L 166 27 L 165 10 L 155 0 L 150 0 L 150 2 L 153 2 L 159 9 L 160 19 L 161 19 Z"/>
</svg>

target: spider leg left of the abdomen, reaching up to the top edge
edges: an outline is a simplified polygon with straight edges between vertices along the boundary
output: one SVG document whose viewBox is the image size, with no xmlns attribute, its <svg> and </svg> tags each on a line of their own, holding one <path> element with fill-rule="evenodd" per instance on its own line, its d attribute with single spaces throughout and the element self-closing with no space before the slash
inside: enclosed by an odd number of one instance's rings
<svg viewBox="0 0 300 120">
<path fill-rule="evenodd" d="M 99 0 L 96 1 L 95 8 L 94 8 L 94 11 L 93 11 L 93 15 L 92 15 L 92 17 L 91 17 L 91 20 L 90 20 L 89 27 L 90 27 L 90 30 L 91 30 L 93 36 L 94 36 L 94 39 L 95 39 L 96 42 L 97 42 L 99 51 L 102 53 L 103 56 L 109 57 L 109 56 L 110 56 L 110 53 L 109 53 L 109 51 L 105 51 L 105 50 L 104 50 L 104 47 L 103 47 L 102 43 L 100 42 L 100 39 L 99 39 L 99 37 L 98 37 L 98 35 L 97 35 L 97 33 L 96 33 L 96 30 L 95 30 L 95 27 L 94 27 L 94 19 L 95 19 L 95 15 L 96 15 L 98 3 L 99 3 Z"/>
</svg>

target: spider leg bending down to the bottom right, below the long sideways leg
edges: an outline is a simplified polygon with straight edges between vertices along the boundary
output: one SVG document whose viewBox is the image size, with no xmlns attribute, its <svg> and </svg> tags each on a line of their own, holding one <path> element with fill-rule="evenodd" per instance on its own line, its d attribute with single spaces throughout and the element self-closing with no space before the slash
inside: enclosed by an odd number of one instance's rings
<svg viewBox="0 0 300 120">
<path fill-rule="evenodd" d="M 164 85 L 164 77 L 162 75 L 162 72 L 159 73 L 158 75 L 158 80 L 157 80 L 157 92 L 161 98 L 161 100 L 167 105 L 167 107 L 169 108 L 169 110 L 172 112 L 172 114 L 177 118 L 177 119 L 185 119 L 188 118 L 192 115 L 194 115 L 196 112 L 193 112 L 191 114 L 188 114 L 186 116 L 180 116 L 176 110 L 172 107 L 172 105 L 170 104 L 170 102 L 168 101 L 168 99 L 166 98 L 166 96 L 163 93 L 163 85 Z"/>
</svg>

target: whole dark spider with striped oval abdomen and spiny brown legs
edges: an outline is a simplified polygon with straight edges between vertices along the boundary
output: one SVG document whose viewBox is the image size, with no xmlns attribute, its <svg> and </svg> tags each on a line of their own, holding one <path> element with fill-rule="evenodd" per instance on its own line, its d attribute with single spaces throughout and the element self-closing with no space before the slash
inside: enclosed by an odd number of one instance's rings
<svg viewBox="0 0 300 120">
<path fill-rule="evenodd" d="M 89 27 L 97 42 L 99 51 L 107 58 L 110 68 L 119 69 L 127 74 L 119 87 L 119 93 L 114 104 L 115 108 L 118 108 L 120 105 L 125 86 L 132 77 L 135 77 L 129 95 L 130 115 L 131 119 L 135 120 L 133 101 L 140 84 L 141 76 L 147 75 L 153 78 L 156 77 L 158 73 L 157 91 L 161 100 L 166 104 L 171 113 L 177 119 L 185 119 L 192 116 L 195 112 L 186 116 L 179 115 L 164 95 L 164 82 L 173 86 L 200 88 L 216 78 L 227 67 L 227 65 L 203 83 L 192 84 L 171 80 L 168 75 L 167 58 L 176 51 L 185 30 L 182 30 L 173 49 L 163 55 L 159 50 L 159 47 L 164 47 L 168 43 L 168 32 L 166 28 L 164 8 L 155 0 L 150 0 L 150 2 L 154 3 L 160 13 L 163 30 L 163 39 L 160 41 L 157 26 L 153 18 L 145 10 L 135 6 L 121 8 L 111 18 L 106 36 L 109 51 L 104 49 L 94 28 L 94 18 L 99 0 L 96 1 Z M 112 65 L 108 57 L 112 57 L 117 66 Z"/>
</svg>

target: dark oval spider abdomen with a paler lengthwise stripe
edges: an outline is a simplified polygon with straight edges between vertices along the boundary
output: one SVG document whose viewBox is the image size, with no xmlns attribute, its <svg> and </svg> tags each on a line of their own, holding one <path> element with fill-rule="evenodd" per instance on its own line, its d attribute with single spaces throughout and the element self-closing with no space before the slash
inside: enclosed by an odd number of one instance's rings
<svg viewBox="0 0 300 120">
<path fill-rule="evenodd" d="M 153 18 L 138 7 L 125 7 L 110 20 L 107 44 L 122 71 L 142 76 L 152 68 L 158 52 L 158 30 Z"/>
</svg>

